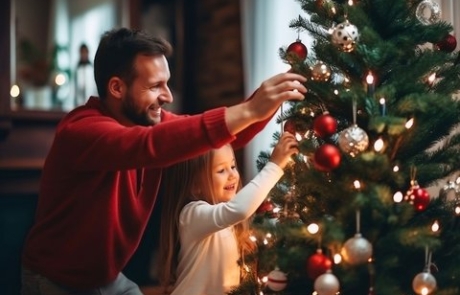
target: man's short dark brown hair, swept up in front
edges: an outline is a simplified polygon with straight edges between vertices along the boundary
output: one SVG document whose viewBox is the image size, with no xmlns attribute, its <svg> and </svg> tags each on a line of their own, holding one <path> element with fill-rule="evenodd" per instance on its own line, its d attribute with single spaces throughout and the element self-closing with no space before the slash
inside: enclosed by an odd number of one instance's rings
<svg viewBox="0 0 460 295">
<path fill-rule="evenodd" d="M 105 32 L 94 58 L 94 79 L 99 97 L 107 96 L 107 84 L 119 77 L 130 85 L 136 77 L 134 60 L 138 55 L 172 55 L 172 46 L 165 39 L 153 37 L 145 31 L 120 28 Z"/>
</svg>

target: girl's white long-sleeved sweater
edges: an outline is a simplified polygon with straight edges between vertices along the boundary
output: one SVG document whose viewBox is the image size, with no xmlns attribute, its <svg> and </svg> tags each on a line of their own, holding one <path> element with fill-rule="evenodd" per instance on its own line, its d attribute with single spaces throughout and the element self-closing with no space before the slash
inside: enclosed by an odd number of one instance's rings
<svg viewBox="0 0 460 295">
<path fill-rule="evenodd" d="M 177 281 L 171 295 L 223 295 L 239 285 L 232 225 L 250 217 L 282 175 L 278 165 L 268 162 L 232 200 L 216 205 L 194 201 L 182 209 Z"/>
</svg>

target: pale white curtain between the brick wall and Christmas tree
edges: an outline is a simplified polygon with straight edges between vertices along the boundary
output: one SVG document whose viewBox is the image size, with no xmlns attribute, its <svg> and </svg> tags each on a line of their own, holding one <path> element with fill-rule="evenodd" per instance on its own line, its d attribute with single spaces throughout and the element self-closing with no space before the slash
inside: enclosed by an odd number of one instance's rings
<svg viewBox="0 0 460 295">
<path fill-rule="evenodd" d="M 303 13 L 300 4 L 295 0 L 240 0 L 240 5 L 245 95 L 249 97 L 264 80 L 289 69 L 279 56 L 280 47 L 288 46 L 298 36 L 309 47 L 311 38 L 306 32 L 298 34 L 289 28 L 289 23 L 297 18 L 299 13 Z M 243 175 L 246 181 L 258 172 L 256 159 L 259 153 L 271 151 L 272 134 L 281 128 L 275 122 L 278 115 L 279 111 L 245 148 Z"/>
</svg>

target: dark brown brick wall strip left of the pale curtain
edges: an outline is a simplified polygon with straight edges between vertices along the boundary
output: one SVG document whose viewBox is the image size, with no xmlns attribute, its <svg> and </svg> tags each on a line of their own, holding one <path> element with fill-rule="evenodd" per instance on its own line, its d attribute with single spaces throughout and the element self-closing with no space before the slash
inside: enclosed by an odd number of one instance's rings
<svg viewBox="0 0 460 295">
<path fill-rule="evenodd" d="M 233 105 L 244 95 L 239 1 L 193 2 L 196 110 Z"/>
</svg>

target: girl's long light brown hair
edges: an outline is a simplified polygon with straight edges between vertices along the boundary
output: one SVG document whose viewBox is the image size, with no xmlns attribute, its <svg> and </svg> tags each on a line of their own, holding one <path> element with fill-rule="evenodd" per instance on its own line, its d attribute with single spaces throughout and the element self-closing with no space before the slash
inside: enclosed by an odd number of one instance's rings
<svg viewBox="0 0 460 295">
<path fill-rule="evenodd" d="M 162 199 L 160 245 L 159 245 L 159 281 L 162 286 L 174 284 L 179 240 L 179 214 L 186 204 L 204 200 L 210 204 L 218 203 L 212 195 L 212 158 L 215 150 L 177 163 L 163 171 L 164 196 Z M 241 188 L 241 178 L 238 190 Z M 203 197 L 206 196 L 206 197 Z M 249 240 L 249 221 L 234 225 L 238 245 L 243 253 L 255 250 L 255 244 Z M 236 262 L 235 262 L 236 263 Z"/>
</svg>

